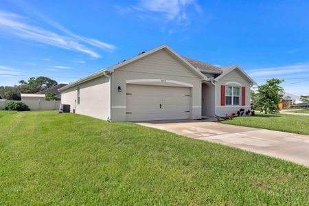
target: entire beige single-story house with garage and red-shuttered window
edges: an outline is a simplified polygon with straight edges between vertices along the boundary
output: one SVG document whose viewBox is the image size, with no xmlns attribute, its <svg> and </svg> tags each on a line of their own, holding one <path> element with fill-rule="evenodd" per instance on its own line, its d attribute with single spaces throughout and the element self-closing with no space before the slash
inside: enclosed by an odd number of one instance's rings
<svg viewBox="0 0 309 206">
<path fill-rule="evenodd" d="M 168 45 L 123 60 L 59 89 L 76 113 L 113 122 L 201 119 L 250 108 L 255 84 L 238 66 L 216 67 Z"/>
</svg>

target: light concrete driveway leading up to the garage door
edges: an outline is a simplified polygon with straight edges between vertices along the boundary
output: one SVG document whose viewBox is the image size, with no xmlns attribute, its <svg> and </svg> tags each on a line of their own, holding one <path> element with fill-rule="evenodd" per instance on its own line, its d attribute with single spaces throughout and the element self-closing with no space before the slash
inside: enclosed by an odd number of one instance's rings
<svg viewBox="0 0 309 206">
<path fill-rule="evenodd" d="M 194 120 L 155 121 L 138 124 L 286 159 L 309 167 L 309 135 Z"/>
</svg>

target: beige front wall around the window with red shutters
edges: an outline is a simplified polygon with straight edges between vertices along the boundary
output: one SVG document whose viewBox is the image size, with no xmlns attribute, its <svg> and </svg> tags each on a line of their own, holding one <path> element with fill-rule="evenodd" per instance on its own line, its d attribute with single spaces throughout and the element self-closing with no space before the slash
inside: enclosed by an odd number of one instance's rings
<svg viewBox="0 0 309 206">
<path fill-rule="evenodd" d="M 237 84 L 237 83 L 238 84 Z M 239 85 L 240 84 L 240 85 Z M 236 86 L 236 87 L 246 87 L 246 105 L 242 104 L 242 90 L 240 89 L 240 105 L 239 106 L 220 106 L 221 105 L 221 85 L 226 86 Z M 250 89 L 251 83 L 247 78 L 238 70 L 235 69 L 223 76 L 218 82 L 216 82 L 216 115 L 229 115 L 231 113 L 236 113 L 240 108 L 249 109 L 250 108 Z"/>
</svg>

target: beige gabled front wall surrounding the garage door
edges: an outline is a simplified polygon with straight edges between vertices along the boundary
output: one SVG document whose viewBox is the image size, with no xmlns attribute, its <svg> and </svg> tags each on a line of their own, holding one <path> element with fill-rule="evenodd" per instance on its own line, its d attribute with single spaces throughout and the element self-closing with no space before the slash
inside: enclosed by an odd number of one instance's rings
<svg viewBox="0 0 309 206">
<path fill-rule="evenodd" d="M 192 84 L 191 117 L 201 118 L 201 78 L 181 64 L 174 56 L 159 50 L 144 58 L 131 62 L 124 67 L 115 69 L 112 75 L 112 120 L 126 122 L 126 80 L 162 80 L 162 82 L 143 82 L 162 86 L 182 87 L 179 84 L 164 82 L 172 80 Z M 122 92 L 118 92 L 118 87 Z"/>
</svg>

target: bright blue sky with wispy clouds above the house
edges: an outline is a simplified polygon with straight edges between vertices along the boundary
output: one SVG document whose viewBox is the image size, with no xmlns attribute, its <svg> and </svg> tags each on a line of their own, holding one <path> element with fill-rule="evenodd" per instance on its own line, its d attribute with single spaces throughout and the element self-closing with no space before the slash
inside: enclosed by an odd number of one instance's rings
<svg viewBox="0 0 309 206">
<path fill-rule="evenodd" d="M 0 85 L 73 82 L 167 43 L 309 95 L 309 1 L 0 1 Z"/>
</svg>

